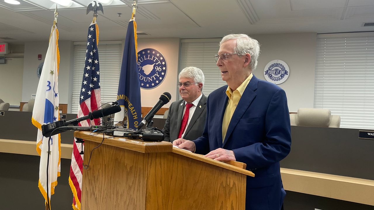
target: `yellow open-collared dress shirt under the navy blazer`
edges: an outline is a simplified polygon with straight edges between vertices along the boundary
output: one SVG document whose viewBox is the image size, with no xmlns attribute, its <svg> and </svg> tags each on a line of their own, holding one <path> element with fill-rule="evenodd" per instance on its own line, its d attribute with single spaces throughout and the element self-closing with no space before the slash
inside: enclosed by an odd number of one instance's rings
<svg viewBox="0 0 374 210">
<path fill-rule="evenodd" d="M 253 74 L 249 74 L 249 76 L 243 81 L 243 83 L 234 91 L 231 90 L 230 87 L 227 87 L 226 95 L 229 97 L 228 103 L 226 105 L 225 114 L 223 115 L 222 121 L 222 142 L 225 140 L 225 136 L 227 133 L 227 127 L 229 127 L 230 120 L 234 114 L 235 108 L 239 103 L 240 98 L 243 95 L 243 92 L 249 81 L 251 81 Z"/>
</svg>

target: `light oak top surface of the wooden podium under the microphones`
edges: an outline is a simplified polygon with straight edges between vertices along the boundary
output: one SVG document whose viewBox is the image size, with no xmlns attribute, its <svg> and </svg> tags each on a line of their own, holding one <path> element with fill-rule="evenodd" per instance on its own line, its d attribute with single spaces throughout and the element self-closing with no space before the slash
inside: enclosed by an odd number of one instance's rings
<svg viewBox="0 0 374 210">
<path fill-rule="evenodd" d="M 236 161 L 220 162 L 210 158 L 203 157 L 203 155 L 195 154 L 184 149 L 173 147 L 171 142 L 145 142 L 140 139 L 128 139 L 125 137 L 109 136 L 103 133 L 92 133 L 89 131 L 76 131 L 74 132 L 76 138 L 89 140 L 92 142 L 103 143 L 110 146 L 129 149 L 132 151 L 142 153 L 156 153 L 156 152 L 173 152 L 175 154 L 183 155 L 197 161 L 202 161 L 208 164 L 215 165 L 227 170 L 232 170 L 247 176 L 254 177 L 254 173 L 245 170 L 246 164 Z M 103 140 L 104 138 L 104 140 Z"/>
</svg>

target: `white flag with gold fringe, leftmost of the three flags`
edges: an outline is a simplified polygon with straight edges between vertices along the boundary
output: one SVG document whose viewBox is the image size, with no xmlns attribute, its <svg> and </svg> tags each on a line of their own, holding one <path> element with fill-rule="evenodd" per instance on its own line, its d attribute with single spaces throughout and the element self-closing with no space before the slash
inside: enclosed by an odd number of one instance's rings
<svg viewBox="0 0 374 210">
<path fill-rule="evenodd" d="M 59 120 L 58 68 L 60 53 L 58 50 L 58 30 L 53 25 L 49 37 L 49 46 L 40 75 L 35 97 L 31 122 L 38 128 L 36 151 L 40 155 L 39 190 L 46 200 L 46 206 L 51 195 L 55 193 L 57 177 L 60 176 L 61 139 L 53 135 L 49 139 L 42 135 L 42 125 Z M 49 154 L 49 157 L 48 157 Z M 48 171 L 47 171 L 48 167 Z M 48 201 L 48 202 L 47 202 Z M 50 207 L 50 206 L 49 206 Z"/>
</svg>

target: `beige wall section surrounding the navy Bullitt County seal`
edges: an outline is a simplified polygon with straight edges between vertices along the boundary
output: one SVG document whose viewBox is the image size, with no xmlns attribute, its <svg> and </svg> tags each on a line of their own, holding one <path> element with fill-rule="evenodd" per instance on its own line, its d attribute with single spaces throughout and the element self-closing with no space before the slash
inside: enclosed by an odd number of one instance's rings
<svg viewBox="0 0 374 210">
<path fill-rule="evenodd" d="M 164 81 L 154 89 L 142 89 L 141 105 L 153 107 L 159 101 L 163 92 L 171 94 L 171 102 L 177 99 L 177 74 L 178 74 L 178 58 L 179 58 L 179 38 L 150 38 L 138 39 L 138 51 L 145 48 L 156 49 L 162 53 L 166 59 L 167 72 Z M 169 108 L 170 103 L 163 107 Z"/>
</svg>

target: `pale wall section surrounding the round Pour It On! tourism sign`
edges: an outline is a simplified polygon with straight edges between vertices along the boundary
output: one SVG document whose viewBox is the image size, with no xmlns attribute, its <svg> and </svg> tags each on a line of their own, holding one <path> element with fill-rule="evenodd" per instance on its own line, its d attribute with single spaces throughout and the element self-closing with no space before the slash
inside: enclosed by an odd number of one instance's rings
<svg viewBox="0 0 374 210">
<path fill-rule="evenodd" d="M 286 62 L 290 74 L 279 87 L 286 92 L 289 111 L 313 108 L 317 34 L 262 34 L 252 37 L 261 44 L 261 54 L 253 74 L 265 80 L 264 68 L 268 62 L 276 59 Z"/>
</svg>

